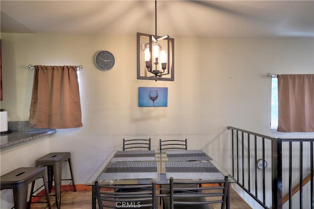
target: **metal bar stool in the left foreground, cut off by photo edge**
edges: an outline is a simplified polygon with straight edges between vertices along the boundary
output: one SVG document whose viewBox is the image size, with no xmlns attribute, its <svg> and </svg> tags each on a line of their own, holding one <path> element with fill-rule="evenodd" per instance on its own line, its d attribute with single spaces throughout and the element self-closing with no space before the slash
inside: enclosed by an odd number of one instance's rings
<svg viewBox="0 0 314 209">
<path fill-rule="evenodd" d="M 51 209 L 46 172 L 44 167 L 21 167 L 0 177 L 1 190 L 13 189 L 14 208 L 30 208 L 32 193 L 27 203 L 27 190 L 29 183 L 35 183 L 36 179 L 43 178 L 48 208 Z"/>
</svg>

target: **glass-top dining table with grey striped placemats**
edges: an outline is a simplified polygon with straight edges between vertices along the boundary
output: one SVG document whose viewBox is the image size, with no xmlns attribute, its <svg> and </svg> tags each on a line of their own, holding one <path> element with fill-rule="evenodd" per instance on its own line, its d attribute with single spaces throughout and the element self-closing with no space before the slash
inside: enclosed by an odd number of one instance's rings
<svg viewBox="0 0 314 209">
<path fill-rule="evenodd" d="M 203 150 L 129 150 L 113 151 L 85 183 L 92 186 L 92 209 L 96 209 L 95 182 L 99 184 L 169 184 L 174 181 L 235 179 Z M 229 186 L 226 207 L 229 209 Z"/>
</svg>

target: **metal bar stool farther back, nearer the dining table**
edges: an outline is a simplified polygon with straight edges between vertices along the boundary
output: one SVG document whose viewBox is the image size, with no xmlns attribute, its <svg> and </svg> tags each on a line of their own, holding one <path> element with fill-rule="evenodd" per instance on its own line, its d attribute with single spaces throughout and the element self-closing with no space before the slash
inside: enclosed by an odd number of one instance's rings
<svg viewBox="0 0 314 209">
<path fill-rule="evenodd" d="M 62 162 L 68 161 L 71 179 L 62 179 Z M 74 183 L 70 153 L 49 153 L 43 157 L 36 159 L 35 166 L 47 166 L 48 168 L 48 189 L 52 190 L 52 181 L 54 180 L 55 202 L 57 209 L 60 209 L 61 204 L 61 181 L 71 180 L 73 191 L 77 191 Z M 54 176 L 54 179 L 53 179 Z M 69 185 L 71 184 L 69 183 Z"/>
</svg>

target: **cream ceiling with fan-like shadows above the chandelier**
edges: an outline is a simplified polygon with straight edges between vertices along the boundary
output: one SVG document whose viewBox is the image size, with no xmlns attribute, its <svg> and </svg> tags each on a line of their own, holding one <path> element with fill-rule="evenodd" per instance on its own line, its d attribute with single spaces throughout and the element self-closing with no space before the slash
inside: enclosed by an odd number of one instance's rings
<svg viewBox="0 0 314 209">
<path fill-rule="evenodd" d="M 155 34 L 153 0 L 1 0 L 1 32 Z M 314 37 L 314 0 L 158 0 L 157 35 Z"/>
</svg>

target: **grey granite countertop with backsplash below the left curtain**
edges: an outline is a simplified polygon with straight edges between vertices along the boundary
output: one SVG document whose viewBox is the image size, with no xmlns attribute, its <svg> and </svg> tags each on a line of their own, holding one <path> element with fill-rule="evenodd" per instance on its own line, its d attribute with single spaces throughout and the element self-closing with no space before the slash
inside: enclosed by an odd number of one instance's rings
<svg viewBox="0 0 314 209">
<path fill-rule="evenodd" d="M 1 134 L 0 136 L 0 149 L 55 133 L 55 129 L 29 127 L 27 121 L 8 122 L 8 130 L 12 132 Z"/>
</svg>

